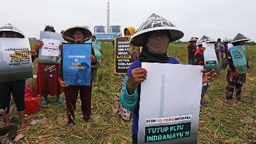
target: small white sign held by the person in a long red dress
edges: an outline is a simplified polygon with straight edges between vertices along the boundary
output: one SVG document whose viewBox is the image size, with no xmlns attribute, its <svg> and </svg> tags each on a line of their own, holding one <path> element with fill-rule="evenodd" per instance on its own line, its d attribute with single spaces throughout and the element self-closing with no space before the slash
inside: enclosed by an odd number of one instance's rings
<svg viewBox="0 0 256 144">
<path fill-rule="evenodd" d="M 43 56 L 59 56 L 60 40 L 51 40 L 51 39 L 43 38 L 42 42 L 44 43 L 44 45 L 42 46 Z"/>
</svg>

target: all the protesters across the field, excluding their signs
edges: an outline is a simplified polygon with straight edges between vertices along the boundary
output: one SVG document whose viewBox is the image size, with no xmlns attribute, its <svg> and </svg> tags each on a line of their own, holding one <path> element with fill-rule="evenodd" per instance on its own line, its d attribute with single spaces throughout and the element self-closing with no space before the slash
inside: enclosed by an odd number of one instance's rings
<svg viewBox="0 0 256 144">
<path fill-rule="evenodd" d="M 159 17 L 158 15 L 155 16 Z M 145 22 L 143 24 L 145 24 Z M 132 114 L 132 143 L 137 143 L 138 141 L 138 119 L 141 88 L 140 84 L 141 82 L 145 81 L 145 79 L 147 79 L 147 70 L 145 68 L 141 68 L 141 62 L 179 64 L 179 61 L 176 58 L 168 56 L 167 51 L 170 42 L 179 40 L 184 36 L 184 33 L 180 30 L 177 30 L 175 25 L 172 25 L 171 22 L 168 21 L 168 24 L 170 26 L 163 24 L 155 28 L 144 26 L 143 28 L 137 29 L 137 31 L 133 27 L 127 27 L 124 29 L 124 35 L 131 36 L 130 42 L 132 45 L 143 47 L 138 60 L 132 63 L 132 65 L 129 67 L 129 70 L 127 70 L 127 74 L 119 76 L 118 95 L 116 99 L 117 115 L 120 115 L 120 117 L 124 120 L 129 120 Z M 55 30 L 52 26 L 46 26 L 44 31 L 55 33 Z M 65 42 L 68 43 L 83 44 L 88 40 L 88 42 L 92 43 L 90 61 L 92 62 L 92 75 L 95 76 L 97 73 L 97 67 L 100 65 L 100 56 L 102 52 L 99 42 L 95 40 L 96 36 L 92 35 L 90 30 L 81 26 L 68 28 L 65 31 L 61 31 L 61 33 Z M 12 28 L 4 28 L 3 30 L 2 27 L 0 28 L 0 34 L 2 38 L 25 37 L 23 33 L 20 33 L 20 31 L 13 31 Z M 193 37 L 191 40 L 189 40 L 188 63 L 190 65 L 204 65 L 205 47 L 202 47 L 202 44 L 196 44 L 197 40 L 198 38 L 196 37 Z M 249 39 L 245 36 L 238 40 L 234 38 L 232 44 L 244 45 L 245 41 L 247 40 Z M 35 58 L 38 57 L 38 52 L 42 45 L 44 45 L 44 43 L 42 41 L 38 41 L 35 45 L 35 48 L 31 49 L 30 52 L 32 60 L 35 60 Z M 227 58 L 228 65 L 230 66 L 227 76 L 227 100 L 232 99 L 234 88 L 236 88 L 236 98 L 239 100 L 241 98 L 241 87 L 245 82 L 245 74 L 239 74 L 237 68 L 232 65 L 232 58 L 230 56 L 230 52 L 227 50 L 226 45 L 216 43 L 216 53 L 219 51 L 217 47 L 220 47 L 220 51 L 224 52 L 221 54 L 221 58 Z M 62 51 L 61 45 L 60 50 Z M 248 67 L 248 69 L 250 69 L 250 67 Z M 216 76 L 214 70 L 207 72 L 207 70 L 203 69 L 202 73 L 203 83 L 211 83 L 214 81 L 214 77 Z M 60 64 L 38 63 L 36 93 L 44 97 L 42 104 L 48 104 L 49 99 L 47 95 L 56 95 L 56 101 L 61 103 L 63 100 L 60 98 L 60 95 L 64 92 L 68 117 L 67 131 L 72 131 L 72 129 L 74 129 L 76 102 L 78 95 L 81 99 L 81 111 L 83 113 L 83 120 L 85 122 L 93 122 L 91 118 L 92 86 L 92 83 L 90 86 L 68 86 L 68 84 L 63 81 L 62 60 Z M 10 125 L 12 125 L 9 120 L 10 116 L 8 115 L 10 109 L 10 95 L 12 93 L 17 111 L 19 111 L 20 115 L 20 129 L 26 129 L 27 124 L 25 120 L 26 106 L 24 102 L 24 90 L 25 80 L 0 83 L 0 115 L 3 115 L 4 127 L 10 127 Z M 206 90 L 207 88 L 202 86 L 202 93 L 204 91 L 204 95 Z M 6 133 L 1 135 L 6 135 Z"/>
</svg>

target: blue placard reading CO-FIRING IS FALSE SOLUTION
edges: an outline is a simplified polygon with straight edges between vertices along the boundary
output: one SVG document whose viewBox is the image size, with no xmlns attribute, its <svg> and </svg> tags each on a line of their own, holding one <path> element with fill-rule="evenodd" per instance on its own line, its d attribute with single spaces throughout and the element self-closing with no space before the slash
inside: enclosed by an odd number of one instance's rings
<svg viewBox="0 0 256 144">
<path fill-rule="evenodd" d="M 63 79 L 68 85 L 91 85 L 92 44 L 63 44 Z"/>
</svg>

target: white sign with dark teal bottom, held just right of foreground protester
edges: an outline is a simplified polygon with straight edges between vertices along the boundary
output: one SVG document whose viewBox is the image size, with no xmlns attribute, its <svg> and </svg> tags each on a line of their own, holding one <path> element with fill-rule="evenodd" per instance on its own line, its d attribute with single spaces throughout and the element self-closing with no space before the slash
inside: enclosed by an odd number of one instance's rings
<svg viewBox="0 0 256 144">
<path fill-rule="evenodd" d="M 202 43 L 202 46 L 205 47 L 204 51 L 204 65 L 207 71 L 214 69 L 215 72 L 220 72 L 220 67 L 218 63 L 218 59 L 216 56 L 216 52 L 214 49 L 213 43 Z"/>
</svg>

